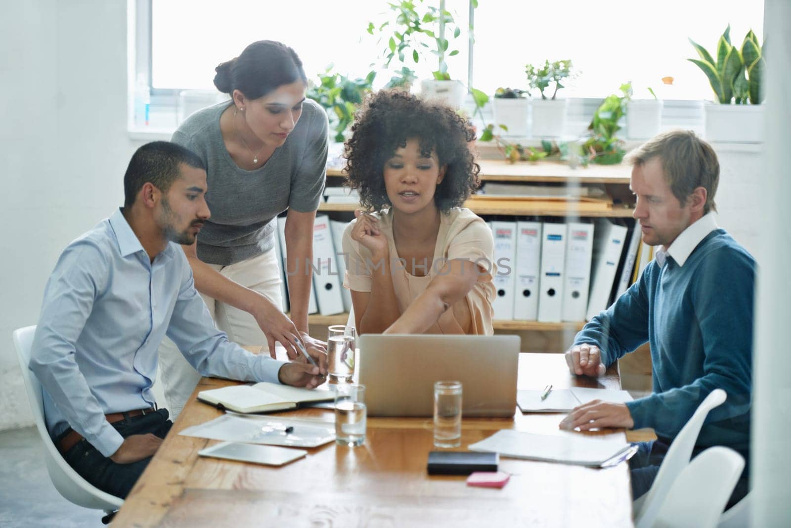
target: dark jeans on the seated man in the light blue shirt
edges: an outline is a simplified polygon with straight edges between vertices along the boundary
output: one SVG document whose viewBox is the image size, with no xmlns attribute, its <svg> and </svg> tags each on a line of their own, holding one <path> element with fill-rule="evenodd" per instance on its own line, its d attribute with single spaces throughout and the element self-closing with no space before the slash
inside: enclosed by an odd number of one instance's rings
<svg viewBox="0 0 791 528">
<path fill-rule="evenodd" d="M 168 420 L 167 409 L 159 409 L 150 414 L 115 422 L 112 426 L 124 438 L 146 433 L 165 438 L 172 424 L 173 422 Z M 66 451 L 63 458 L 86 481 L 103 492 L 121 499 L 127 498 L 132 486 L 151 461 L 149 457 L 131 464 L 116 464 L 97 451 L 97 448 L 86 439 L 74 444 L 69 451 Z"/>
</svg>

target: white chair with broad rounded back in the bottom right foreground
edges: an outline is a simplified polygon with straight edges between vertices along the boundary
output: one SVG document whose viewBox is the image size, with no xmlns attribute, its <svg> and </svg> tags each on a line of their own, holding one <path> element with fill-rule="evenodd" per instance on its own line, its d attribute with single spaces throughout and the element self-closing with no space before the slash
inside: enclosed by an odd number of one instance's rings
<svg viewBox="0 0 791 528">
<path fill-rule="evenodd" d="M 730 447 L 698 454 L 673 482 L 653 522 L 637 528 L 714 528 L 744 470 L 744 458 Z"/>
</svg>

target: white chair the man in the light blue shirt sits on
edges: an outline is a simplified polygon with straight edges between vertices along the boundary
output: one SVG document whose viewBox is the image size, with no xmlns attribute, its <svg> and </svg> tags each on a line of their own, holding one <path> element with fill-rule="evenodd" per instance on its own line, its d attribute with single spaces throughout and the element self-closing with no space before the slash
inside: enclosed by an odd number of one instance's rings
<svg viewBox="0 0 791 528">
<path fill-rule="evenodd" d="M 112 512 L 121 507 L 123 500 L 93 487 L 88 481 L 80 477 L 66 463 L 47 431 L 47 425 L 44 423 L 44 395 L 41 392 L 41 383 L 28 368 L 30 348 L 35 332 L 36 326 L 25 326 L 14 330 L 13 345 L 17 349 L 19 366 L 22 369 L 22 379 L 25 380 L 25 389 L 28 391 L 28 401 L 30 402 L 30 410 L 33 413 L 33 420 L 36 421 L 36 428 L 38 428 L 39 435 L 44 442 L 44 461 L 47 462 L 47 473 L 49 473 L 55 489 L 58 490 L 64 499 L 81 507 L 104 510 L 107 515 L 104 516 L 102 522 L 107 524 L 112 519 Z"/>
</svg>

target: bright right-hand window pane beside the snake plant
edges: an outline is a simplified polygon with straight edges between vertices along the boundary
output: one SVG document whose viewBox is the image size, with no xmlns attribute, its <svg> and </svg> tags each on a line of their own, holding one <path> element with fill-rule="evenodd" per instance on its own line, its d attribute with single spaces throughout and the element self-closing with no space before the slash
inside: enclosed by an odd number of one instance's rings
<svg viewBox="0 0 791 528">
<path fill-rule="evenodd" d="M 734 45 L 750 28 L 763 42 L 763 1 L 480 0 L 473 81 L 486 93 L 522 88 L 525 63 L 570 58 L 579 75 L 566 97 L 604 97 L 632 81 L 638 98 L 651 87 L 664 99 L 711 99 L 706 76 L 687 61 L 698 58 L 687 38 L 714 54 L 729 23 Z M 661 86 L 665 76 L 672 86 Z"/>
</svg>

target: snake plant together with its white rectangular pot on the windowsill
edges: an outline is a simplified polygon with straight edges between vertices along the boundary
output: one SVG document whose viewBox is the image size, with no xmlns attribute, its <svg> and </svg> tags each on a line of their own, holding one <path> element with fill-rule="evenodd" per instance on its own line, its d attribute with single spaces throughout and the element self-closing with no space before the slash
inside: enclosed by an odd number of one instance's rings
<svg viewBox="0 0 791 528">
<path fill-rule="evenodd" d="M 706 74 L 714 92 L 714 102 L 704 106 L 705 137 L 709 141 L 762 141 L 763 48 L 752 30 L 744 37 L 741 49 L 732 45 L 730 32 L 728 25 L 717 42 L 717 60 L 690 39 L 700 58 L 687 60 Z"/>
</svg>

